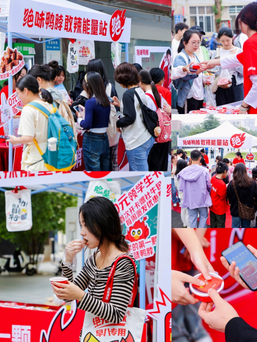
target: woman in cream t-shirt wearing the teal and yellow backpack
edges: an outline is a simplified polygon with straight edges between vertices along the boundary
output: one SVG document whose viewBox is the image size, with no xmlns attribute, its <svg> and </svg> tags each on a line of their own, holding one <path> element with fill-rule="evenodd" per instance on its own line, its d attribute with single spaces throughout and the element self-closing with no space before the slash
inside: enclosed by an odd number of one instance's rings
<svg viewBox="0 0 257 342">
<path fill-rule="evenodd" d="M 38 142 L 44 154 L 48 145 L 48 118 L 38 109 L 26 106 L 26 104 L 38 102 L 51 112 L 52 96 L 46 89 L 41 89 L 38 81 L 29 74 L 16 83 L 16 92 L 17 97 L 25 104 L 18 130 L 21 137 L 10 135 L 10 139 L 7 141 L 14 145 L 24 144 L 26 146 L 22 154 L 22 170 L 48 171 L 33 141 Z"/>
</svg>

